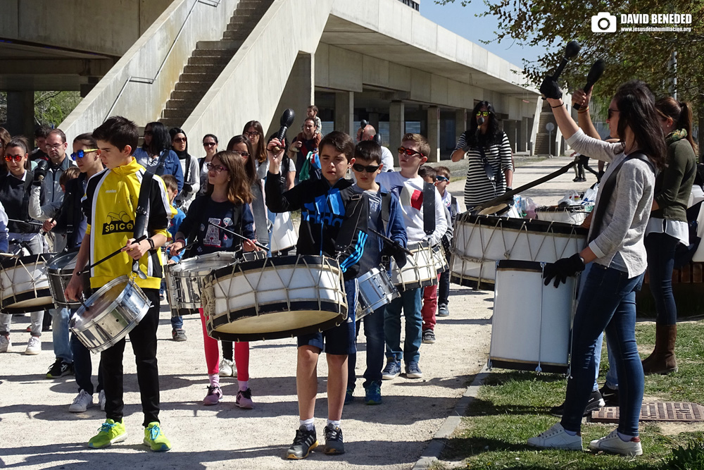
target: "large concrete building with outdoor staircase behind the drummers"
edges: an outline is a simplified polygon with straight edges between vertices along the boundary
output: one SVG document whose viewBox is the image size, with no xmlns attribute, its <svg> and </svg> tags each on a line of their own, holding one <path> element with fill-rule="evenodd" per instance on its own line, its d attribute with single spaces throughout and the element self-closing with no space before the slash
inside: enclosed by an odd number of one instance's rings
<svg viewBox="0 0 704 470">
<path fill-rule="evenodd" d="M 354 135 L 366 119 L 392 149 L 421 132 L 437 161 L 477 101 L 494 103 L 514 151 L 533 149 L 540 128 L 520 69 L 427 20 L 418 1 L 0 1 L 13 132 L 31 132 L 39 89 L 84 95 L 61 123 L 69 138 L 120 114 L 227 140 L 251 119 L 275 131 L 286 108 L 294 132 L 316 104 L 328 129 Z"/>
</svg>

